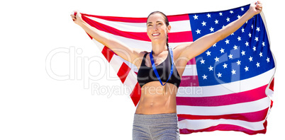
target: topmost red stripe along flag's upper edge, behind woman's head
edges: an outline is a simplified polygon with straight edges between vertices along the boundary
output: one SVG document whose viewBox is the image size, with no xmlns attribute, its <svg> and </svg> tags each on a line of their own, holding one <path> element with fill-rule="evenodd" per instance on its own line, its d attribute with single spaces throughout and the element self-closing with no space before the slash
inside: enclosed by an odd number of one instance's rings
<svg viewBox="0 0 285 140">
<path fill-rule="evenodd" d="M 106 21 L 118 21 L 118 22 L 125 22 L 125 23 L 147 23 L 147 18 L 128 18 L 128 17 L 116 17 L 116 16 L 95 16 L 89 15 L 86 13 L 82 13 L 82 16 L 90 16 L 94 18 L 101 18 Z M 174 16 L 167 16 L 168 21 L 186 21 L 189 20 L 188 14 L 183 15 L 174 15 Z"/>
</svg>

